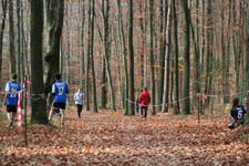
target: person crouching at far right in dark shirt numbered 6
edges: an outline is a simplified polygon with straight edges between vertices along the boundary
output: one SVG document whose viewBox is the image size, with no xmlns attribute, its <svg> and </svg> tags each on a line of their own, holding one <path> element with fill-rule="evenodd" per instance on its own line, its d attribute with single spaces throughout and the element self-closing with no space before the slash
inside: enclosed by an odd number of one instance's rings
<svg viewBox="0 0 249 166">
<path fill-rule="evenodd" d="M 232 122 L 228 125 L 229 128 L 235 128 L 237 125 L 243 125 L 245 123 L 245 114 L 247 114 L 245 107 L 239 105 L 239 98 L 236 97 L 232 101 L 232 108 L 230 111 Z"/>
</svg>

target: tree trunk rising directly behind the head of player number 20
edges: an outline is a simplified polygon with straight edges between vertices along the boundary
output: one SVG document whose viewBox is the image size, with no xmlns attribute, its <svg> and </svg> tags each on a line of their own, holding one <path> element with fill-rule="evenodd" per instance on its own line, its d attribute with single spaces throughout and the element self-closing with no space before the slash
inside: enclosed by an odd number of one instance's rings
<svg viewBox="0 0 249 166">
<path fill-rule="evenodd" d="M 14 44 L 14 20 L 13 0 L 9 0 L 9 52 L 10 52 L 10 73 L 17 73 L 15 44 Z"/>
</svg>

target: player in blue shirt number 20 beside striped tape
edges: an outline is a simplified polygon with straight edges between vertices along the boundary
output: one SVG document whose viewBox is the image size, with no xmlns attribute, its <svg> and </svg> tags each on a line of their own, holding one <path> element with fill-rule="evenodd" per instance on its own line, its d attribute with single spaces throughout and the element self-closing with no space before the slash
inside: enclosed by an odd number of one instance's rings
<svg viewBox="0 0 249 166">
<path fill-rule="evenodd" d="M 6 95 L 3 104 L 7 105 L 7 115 L 10 122 L 9 128 L 12 128 L 14 116 L 17 115 L 18 110 L 18 92 L 21 91 L 21 85 L 17 82 L 18 75 L 14 73 L 11 75 L 11 81 L 6 84 Z"/>
</svg>

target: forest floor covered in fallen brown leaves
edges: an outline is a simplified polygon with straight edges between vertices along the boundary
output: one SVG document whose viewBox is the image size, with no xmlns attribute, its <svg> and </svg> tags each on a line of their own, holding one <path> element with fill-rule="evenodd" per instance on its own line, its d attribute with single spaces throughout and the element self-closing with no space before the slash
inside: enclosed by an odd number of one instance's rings
<svg viewBox="0 0 249 166">
<path fill-rule="evenodd" d="M 0 113 L 1 114 L 1 113 Z M 122 111 L 68 112 L 66 123 L 8 128 L 0 120 L 0 165 L 85 166 L 249 166 L 249 143 L 245 129 L 230 131 L 224 116 L 158 113 L 146 120 L 124 116 Z M 246 131 L 248 134 L 249 131 Z"/>
</svg>

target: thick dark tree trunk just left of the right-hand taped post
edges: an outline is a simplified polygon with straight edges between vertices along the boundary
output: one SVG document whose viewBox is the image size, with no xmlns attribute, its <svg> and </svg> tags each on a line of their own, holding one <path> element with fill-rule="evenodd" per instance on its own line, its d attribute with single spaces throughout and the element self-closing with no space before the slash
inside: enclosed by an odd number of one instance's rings
<svg viewBox="0 0 249 166">
<path fill-rule="evenodd" d="M 190 11 L 188 9 L 188 1 L 180 0 L 184 9 L 184 33 L 185 33 L 185 46 L 184 46 L 184 80 L 183 80 L 183 114 L 190 114 L 190 98 L 189 98 L 189 84 L 190 84 Z"/>
</svg>

